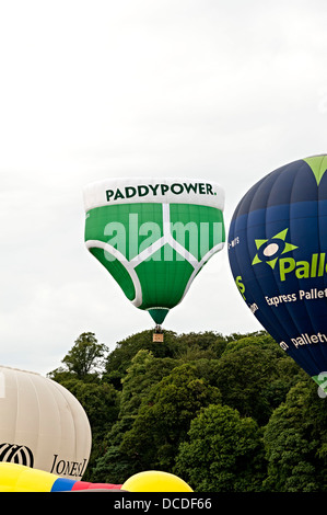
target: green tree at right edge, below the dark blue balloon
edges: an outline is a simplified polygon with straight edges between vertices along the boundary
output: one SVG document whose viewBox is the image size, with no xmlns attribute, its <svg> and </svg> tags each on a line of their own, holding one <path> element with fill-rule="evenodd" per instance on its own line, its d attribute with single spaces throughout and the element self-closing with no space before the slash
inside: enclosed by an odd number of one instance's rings
<svg viewBox="0 0 327 515">
<path fill-rule="evenodd" d="M 326 399 L 311 379 L 297 382 L 265 428 L 268 478 L 276 492 L 326 492 Z"/>
</svg>

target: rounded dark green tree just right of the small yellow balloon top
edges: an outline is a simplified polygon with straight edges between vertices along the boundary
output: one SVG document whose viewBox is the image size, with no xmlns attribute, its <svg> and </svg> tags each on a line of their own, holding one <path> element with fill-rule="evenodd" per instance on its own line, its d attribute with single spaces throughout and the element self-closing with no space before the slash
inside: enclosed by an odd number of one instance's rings
<svg viewBox="0 0 327 515">
<path fill-rule="evenodd" d="M 266 464 L 257 423 L 227 405 L 209 405 L 190 423 L 174 472 L 198 492 L 260 491 Z"/>
</svg>

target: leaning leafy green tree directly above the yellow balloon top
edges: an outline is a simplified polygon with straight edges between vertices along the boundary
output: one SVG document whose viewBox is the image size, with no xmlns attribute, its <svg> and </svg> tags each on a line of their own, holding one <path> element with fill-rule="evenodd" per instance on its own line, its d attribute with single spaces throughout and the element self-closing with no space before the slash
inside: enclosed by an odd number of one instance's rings
<svg viewBox="0 0 327 515">
<path fill-rule="evenodd" d="M 219 390 L 199 378 L 196 367 L 175 367 L 143 400 L 132 428 L 122 437 L 120 450 L 141 470 L 170 471 L 190 421 L 202 407 L 214 402 L 220 402 Z"/>
</svg>

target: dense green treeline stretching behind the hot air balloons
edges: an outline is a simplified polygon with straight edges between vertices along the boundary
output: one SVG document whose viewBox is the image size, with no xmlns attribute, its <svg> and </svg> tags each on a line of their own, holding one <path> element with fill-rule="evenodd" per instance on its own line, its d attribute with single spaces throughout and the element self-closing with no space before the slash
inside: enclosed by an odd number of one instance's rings
<svg viewBox="0 0 327 515">
<path fill-rule="evenodd" d="M 176 473 L 198 492 L 327 491 L 327 399 L 266 333 L 81 334 L 49 377 L 87 413 L 83 480 Z"/>
</svg>

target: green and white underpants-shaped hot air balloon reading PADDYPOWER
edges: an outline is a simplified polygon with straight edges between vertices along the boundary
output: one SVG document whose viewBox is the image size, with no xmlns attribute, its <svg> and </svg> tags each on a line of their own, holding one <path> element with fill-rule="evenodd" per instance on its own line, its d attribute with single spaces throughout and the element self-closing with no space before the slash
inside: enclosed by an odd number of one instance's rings
<svg viewBox="0 0 327 515">
<path fill-rule="evenodd" d="M 108 179 L 84 188 L 84 207 L 86 248 L 156 324 L 225 240 L 224 192 L 211 181 Z"/>
</svg>

